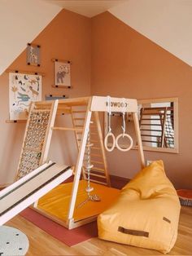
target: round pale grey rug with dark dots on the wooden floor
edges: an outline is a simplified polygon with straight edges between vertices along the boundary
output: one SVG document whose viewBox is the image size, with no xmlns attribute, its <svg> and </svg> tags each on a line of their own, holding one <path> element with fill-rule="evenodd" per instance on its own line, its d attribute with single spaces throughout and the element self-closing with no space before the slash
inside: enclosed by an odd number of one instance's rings
<svg viewBox="0 0 192 256">
<path fill-rule="evenodd" d="M 0 227 L 0 255 L 25 255 L 28 251 L 28 237 L 14 227 Z"/>
</svg>

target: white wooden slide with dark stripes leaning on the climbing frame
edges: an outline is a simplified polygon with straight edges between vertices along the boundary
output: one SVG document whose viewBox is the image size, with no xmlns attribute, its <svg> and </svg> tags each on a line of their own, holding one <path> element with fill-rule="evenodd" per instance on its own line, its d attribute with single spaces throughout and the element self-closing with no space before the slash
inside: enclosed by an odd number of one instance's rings
<svg viewBox="0 0 192 256">
<path fill-rule="evenodd" d="M 40 166 L 0 192 L 0 226 L 72 176 L 71 166 Z"/>
</svg>

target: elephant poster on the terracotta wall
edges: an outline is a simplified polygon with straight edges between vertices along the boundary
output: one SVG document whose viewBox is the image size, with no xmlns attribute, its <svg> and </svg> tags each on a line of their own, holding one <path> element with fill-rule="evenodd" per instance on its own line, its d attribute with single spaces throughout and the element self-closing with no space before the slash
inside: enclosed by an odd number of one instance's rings
<svg viewBox="0 0 192 256">
<path fill-rule="evenodd" d="M 70 63 L 55 61 L 55 86 L 71 87 Z"/>
</svg>

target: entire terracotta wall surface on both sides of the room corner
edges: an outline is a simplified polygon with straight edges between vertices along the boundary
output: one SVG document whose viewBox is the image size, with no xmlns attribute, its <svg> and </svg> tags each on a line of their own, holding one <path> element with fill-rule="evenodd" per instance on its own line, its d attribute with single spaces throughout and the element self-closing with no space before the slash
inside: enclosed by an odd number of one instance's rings
<svg viewBox="0 0 192 256">
<path fill-rule="evenodd" d="M 24 51 L 10 68 L 46 73 L 43 96 L 60 93 L 70 97 L 85 96 L 90 94 L 91 84 L 92 95 L 136 99 L 178 97 L 180 153 L 145 152 L 145 155 L 149 160 L 164 160 L 168 177 L 177 188 L 192 188 L 190 66 L 108 12 L 90 22 L 81 15 L 61 11 L 33 43 L 41 45 L 41 67 L 27 66 Z M 51 87 L 54 82 L 51 58 L 72 60 L 72 90 Z M 9 115 L 8 73 L 0 76 L 0 95 L 2 184 L 12 181 L 24 135 L 24 124 L 5 123 Z M 76 149 L 71 140 L 63 135 L 54 135 L 50 159 L 66 164 L 74 162 Z M 129 153 L 114 150 L 107 158 L 111 174 L 132 178 L 140 168 L 135 150 Z"/>
</svg>

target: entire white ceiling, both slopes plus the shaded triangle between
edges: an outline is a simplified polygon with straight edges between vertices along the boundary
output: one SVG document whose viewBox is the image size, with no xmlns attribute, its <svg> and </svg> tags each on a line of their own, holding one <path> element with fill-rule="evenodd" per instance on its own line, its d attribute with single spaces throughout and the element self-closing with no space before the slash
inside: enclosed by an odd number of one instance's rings
<svg viewBox="0 0 192 256">
<path fill-rule="evenodd" d="M 0 75 L 62 8 L 88 17 L 108 10 L 192 66 L 191 0 L 1 0 Z"/>
</svg>

